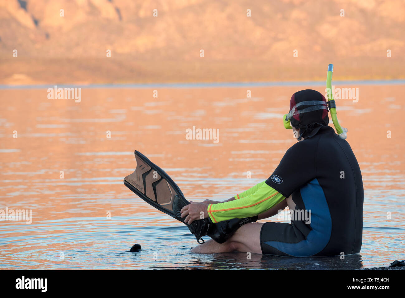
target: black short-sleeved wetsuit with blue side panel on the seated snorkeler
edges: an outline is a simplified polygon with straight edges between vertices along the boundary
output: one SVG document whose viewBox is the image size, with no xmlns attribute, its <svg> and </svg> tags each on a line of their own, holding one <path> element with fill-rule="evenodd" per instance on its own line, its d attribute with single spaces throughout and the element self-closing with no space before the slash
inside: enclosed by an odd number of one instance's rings
<svg viewBox="0 0 405 298">
<path fill-rule="evenodd" d="M 359 253 L 362 243 L 363 183 L 352 148 L 323 126 L 287 150 L 266 183 L 307 210 L 310 221 L 267 222 L 260 231 L 262 253 L 327 256 Z M 301 213 L 302 214 L 302 213 Z"/>
</svg>

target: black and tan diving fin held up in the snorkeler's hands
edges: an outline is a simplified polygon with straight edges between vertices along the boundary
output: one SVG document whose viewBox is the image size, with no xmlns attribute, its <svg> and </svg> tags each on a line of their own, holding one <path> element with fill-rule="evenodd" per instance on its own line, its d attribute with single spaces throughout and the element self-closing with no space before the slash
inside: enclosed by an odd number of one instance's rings
<svg viewBox="0 0 405 298">
<path fill-rule="evenodd" d="M 190 202 L 184 198 L 177 184 L 141 152 L 135 150 L 135 159 L 136 169 L 124 178 L 124 185 L 148 204 L 185 224 L 180 210 Z M 185 225 L 196 236 L 198 244 L 203 244 L 201 237 L 207 235 L 210 223 L 199 219 Z"/>
</svg>

